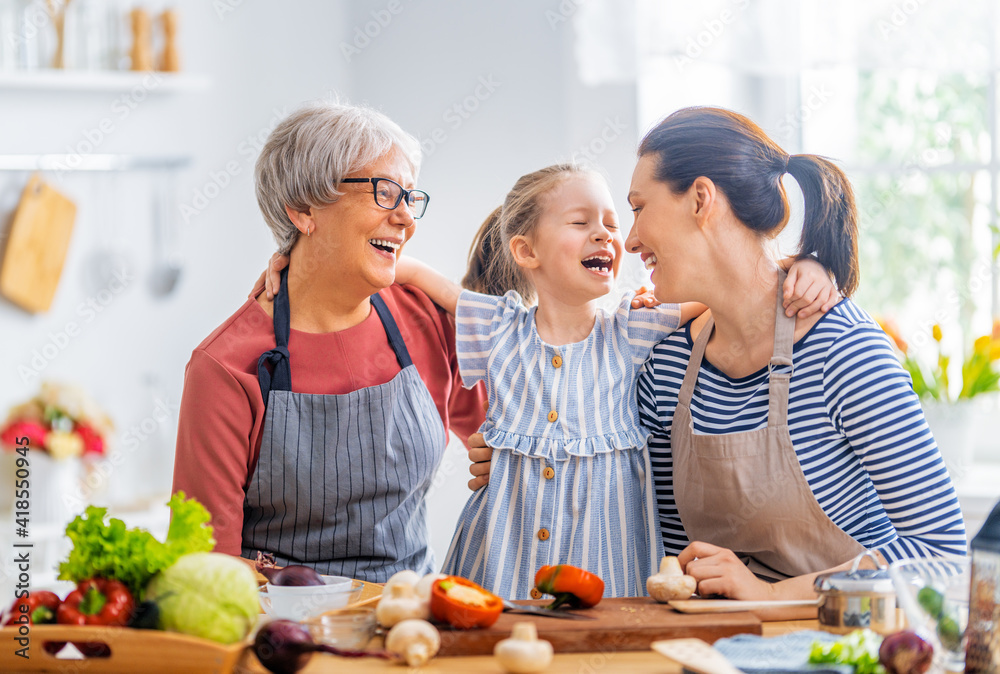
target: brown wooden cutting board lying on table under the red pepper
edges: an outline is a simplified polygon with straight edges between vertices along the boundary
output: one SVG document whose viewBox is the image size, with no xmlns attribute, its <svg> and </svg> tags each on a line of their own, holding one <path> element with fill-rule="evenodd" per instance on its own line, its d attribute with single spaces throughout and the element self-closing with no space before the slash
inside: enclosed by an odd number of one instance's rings
<svg viewBox="0 0 1000 674">
<path fill-rule="evenodd" d="M 545 601 L 518 602 L 544 606 Z M 510 636 L 516 622 L 533 622 L 538 638 L 552 643 L 556 653 L 644 651 L 662 639 L 697 637 L 708 643 L 734 634 L 760 634 L 761 623 L 750 613 L 686 615 L 648 597 L 605 599 L 594 608 L 576 611 L 595 620 L 563 620 L 504 613 L 489 629 L 441 631 L 440 655 L 492 655 L 493 647 Z"/>
</svg>

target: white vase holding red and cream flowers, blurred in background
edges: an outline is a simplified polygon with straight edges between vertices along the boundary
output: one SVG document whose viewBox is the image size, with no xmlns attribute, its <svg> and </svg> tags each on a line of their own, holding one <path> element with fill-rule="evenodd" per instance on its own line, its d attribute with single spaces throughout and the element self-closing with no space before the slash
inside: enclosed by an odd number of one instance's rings
<svg viewBox="0 0 1000 674">
<path fill-rule="evenodd" d="M 65 526 L 79 514 L 76 501 L 83 463 L 77 457 L 54 459 L 41 451 L 28 452 L 28 461 L 32 523 Z"/>
</svg>

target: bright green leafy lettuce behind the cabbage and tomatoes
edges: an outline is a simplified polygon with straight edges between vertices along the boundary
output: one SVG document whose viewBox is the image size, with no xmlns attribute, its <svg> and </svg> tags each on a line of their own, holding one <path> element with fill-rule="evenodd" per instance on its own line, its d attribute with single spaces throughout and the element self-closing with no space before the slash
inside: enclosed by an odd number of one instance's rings
<svg viewBox="0 0 1000 674">
<path fill-rule="evenodd" d="M 193 498 L 185 499 L 182 491 L 167 505 L 172 517 L 162 543 L 145 529 L 126 529 L 119 519 L 105 523 L 107 508 L 88 506 L 66 526 L 73 550 L 59 565 L 60 580 L 79 583 L 89 578 L 113 578 L 140 597 L 149 580 L 181 555 L 210 552 L 215 547 L 208 524 L 211 515 L 205 506 Z"/>
</svg>

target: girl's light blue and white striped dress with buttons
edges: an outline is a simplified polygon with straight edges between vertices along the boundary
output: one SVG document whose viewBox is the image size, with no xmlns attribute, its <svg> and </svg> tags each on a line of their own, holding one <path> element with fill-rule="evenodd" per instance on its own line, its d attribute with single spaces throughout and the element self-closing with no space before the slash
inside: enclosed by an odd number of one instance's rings
<svg viewBox="0 0 1000 674">
<path fill-rule="evenodd" d="M 535 572 L 572 564 L 604 580 L 605 596 L 646 592 L 663 545 L 636 379 L 680 308 L 599 311 L 581 342 L 552 346 L 516 292 L 464 291 L 456 315 L 462 383 L 485 380 L 481 431 L 490 483 L 469 499 L 444 572 L 527 599 Z"/>
</svg>

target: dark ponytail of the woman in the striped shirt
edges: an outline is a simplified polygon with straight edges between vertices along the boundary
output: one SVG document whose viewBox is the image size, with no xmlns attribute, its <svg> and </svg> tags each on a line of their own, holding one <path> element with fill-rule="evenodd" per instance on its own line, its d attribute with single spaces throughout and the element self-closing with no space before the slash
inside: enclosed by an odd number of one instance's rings
<svg viewBox="0 0 1000 674">
<path fill-rule="evenodd" d="M 858 211 L 847 176 L 833 162 L 812 154 L 792 155 L 788 172 L 805 201 L 800 255 L 815 254 L 833 272 L 845 297 L 858 288 Z"/>
</svg>

